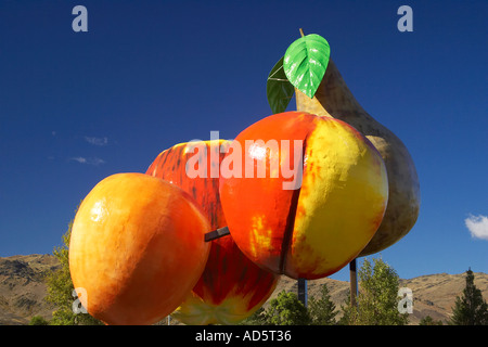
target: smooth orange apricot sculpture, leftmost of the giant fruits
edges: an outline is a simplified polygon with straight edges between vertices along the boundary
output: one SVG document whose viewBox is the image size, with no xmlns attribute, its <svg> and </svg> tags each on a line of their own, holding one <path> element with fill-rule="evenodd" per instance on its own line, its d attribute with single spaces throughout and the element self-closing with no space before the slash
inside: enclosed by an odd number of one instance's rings
<svg viewBox="0 0 488 347">
<path fill-rule="evenodd" d="M 76 214 L 69 243 L 73 284 L 106 324 L 153 324 L 198 281 L 208 257 L 203 211 L 178 187 L 143 174 L 99 182 Z"/>
</svg>

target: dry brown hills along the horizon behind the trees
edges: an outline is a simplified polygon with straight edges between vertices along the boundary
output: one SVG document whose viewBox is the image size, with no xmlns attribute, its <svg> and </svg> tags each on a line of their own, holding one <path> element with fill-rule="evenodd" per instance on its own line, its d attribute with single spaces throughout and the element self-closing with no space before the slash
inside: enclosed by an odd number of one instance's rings
<svg viewBox="0 0 488 347">
<path fill-rule="evenodd" d="M 33 316 L 48 320 L 54 307 L 44 300 L 44 275 L 59 267 L 52 255 L 0 257 L 0 325 L 28 324 Z M 308 295 L 317 296 L 320 286 L 326 284 L 331 298 L 339 310 L 349 294 L 349 282 L 332 279 L 308 281 Z M 400 280 L 401 286 L 413 292 L 413 313 L 410 324 L 418 324 L 427 314 L 434 320 L 448 321 L 455 297 L 462 295 L 465 274 L 427 274 L 411 280 Z M 475 272 L 475 285 L 488 299 L 488 274 Z M 296 281 L 282 277 L 270 299 L 281 291 L 297 291 Z M 266 305 L 266 304 L 265 304 Z"/>
</svg>

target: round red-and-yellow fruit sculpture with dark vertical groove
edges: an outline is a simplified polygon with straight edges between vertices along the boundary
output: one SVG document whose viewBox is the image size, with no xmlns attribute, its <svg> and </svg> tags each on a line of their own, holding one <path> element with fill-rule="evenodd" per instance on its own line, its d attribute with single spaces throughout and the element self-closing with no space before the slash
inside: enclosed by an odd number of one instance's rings
<svg viewBox="0 0 488 347">
<path fill-rule="evenodd" d="M 275 114 L 242 131 L 231 147 L 222 160 L 229 172 L 220 177 L 223 213 L 241 250 L 269 271 L 308 280 L 330 275 L 382 222 L 385 165 L 344 121 Z"/>
</svg>

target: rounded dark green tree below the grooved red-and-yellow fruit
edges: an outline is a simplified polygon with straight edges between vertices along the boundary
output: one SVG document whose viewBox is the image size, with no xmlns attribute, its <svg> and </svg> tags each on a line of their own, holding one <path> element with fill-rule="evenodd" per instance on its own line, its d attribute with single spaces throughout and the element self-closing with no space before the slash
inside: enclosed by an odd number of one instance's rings
<svg viewBox="0 0 488 347">
<path fill-rule="evenodd" d="M 285 291 L 270 301 L 264 319 L 268 325 L 307 325 L 311 321 L 307 308 L 298 300 L 298 296 Z"/>
</svg>

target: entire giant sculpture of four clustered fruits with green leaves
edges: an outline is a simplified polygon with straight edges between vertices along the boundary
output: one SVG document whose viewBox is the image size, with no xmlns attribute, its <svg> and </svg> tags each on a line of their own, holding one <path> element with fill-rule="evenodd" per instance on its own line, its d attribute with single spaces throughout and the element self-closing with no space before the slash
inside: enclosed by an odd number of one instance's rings
<svg viewBox="0 0 488 347">
<path fill-rule="evenodd" d="M 69 244 L 89 313 L 106 324 L 171 312 L 236 323 L 279 274 L 326 277 L 409 232 L 420 201 L 412 159 L 352 97 L 325 39 L 293 42 L 267 92 L 273 115 L 234 141 L 175 145 L 146 175 L 113 175 L 90 191 Z M 284 112 L 294 93 L 298 111 Z M 208 242 L 227 224 L 230 235 Z"/>
</svg>

